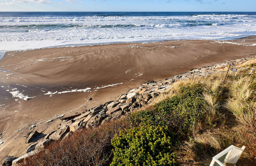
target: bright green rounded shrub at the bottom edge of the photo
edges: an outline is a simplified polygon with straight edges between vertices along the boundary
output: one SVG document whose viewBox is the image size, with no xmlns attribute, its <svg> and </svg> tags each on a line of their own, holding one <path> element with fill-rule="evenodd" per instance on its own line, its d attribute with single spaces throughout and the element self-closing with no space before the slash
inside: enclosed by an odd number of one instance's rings
<svg viewBox="0 0 256 166">
<path fill-rule="evenodd" d="M 143 126 L 121 131 L 111 141 L 111 166 L 174 166 L 173 133 L 167 128 Z"/>
</svg>

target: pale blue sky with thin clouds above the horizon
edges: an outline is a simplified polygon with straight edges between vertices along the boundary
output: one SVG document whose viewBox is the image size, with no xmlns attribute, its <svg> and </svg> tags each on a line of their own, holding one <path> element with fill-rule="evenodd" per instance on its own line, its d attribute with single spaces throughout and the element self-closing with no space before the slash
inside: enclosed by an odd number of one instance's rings
<svg viewBox="0 0 256 166">
<path fill-rule="evenodd" d="M 0 0 L 0 11 L 256 11 L 256 0 Z"/>
</svg>

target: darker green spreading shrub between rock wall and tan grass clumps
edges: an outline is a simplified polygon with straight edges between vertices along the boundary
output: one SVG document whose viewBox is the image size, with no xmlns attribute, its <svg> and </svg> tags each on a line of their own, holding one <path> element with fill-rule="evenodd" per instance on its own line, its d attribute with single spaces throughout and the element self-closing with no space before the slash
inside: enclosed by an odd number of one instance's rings
<svg viewBox="0 0 256 166">
<path fill-rule="evenodd" d="M 189 132 L 190 126 L 205 116 L 207 102 L 202 98 L 205 89 L 200 83 L 183 87 L 173 97 L 132 114 L 130 119 L 143 125 L 167 125 Z"/>
</svg>

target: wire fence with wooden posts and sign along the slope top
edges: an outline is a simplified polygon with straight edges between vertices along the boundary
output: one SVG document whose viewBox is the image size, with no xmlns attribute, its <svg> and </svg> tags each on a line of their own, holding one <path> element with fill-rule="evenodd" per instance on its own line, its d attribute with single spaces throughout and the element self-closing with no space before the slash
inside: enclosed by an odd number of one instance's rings
<svg viewBox="0 0 256 166">
<path fill-rule="evenodd" d="M 251 66 L 253 66 L 253 64 L 251 64 Z M 185 72 L 173 74 L 172 78 L 169 79 L 169 85 L 177 81 L 187 81 L 189 79 L 223 78 L 225 81 L 228 77 L 241 77 L 255 73 L 256 66 L 245 68 L 229 64 L 228 71 L 226 72 Z"/>
</svg>

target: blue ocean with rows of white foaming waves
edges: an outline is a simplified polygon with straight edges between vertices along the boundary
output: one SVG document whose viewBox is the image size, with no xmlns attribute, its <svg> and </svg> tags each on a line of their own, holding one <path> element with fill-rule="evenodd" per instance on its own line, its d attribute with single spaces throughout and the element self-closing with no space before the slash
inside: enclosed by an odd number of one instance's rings
<svg viewBox="0 0 256 166">
<path fill-rule="evenodd" d="M 256 12 L 0 12 L 0 51 L 256 35 Z"/>
</svg>

